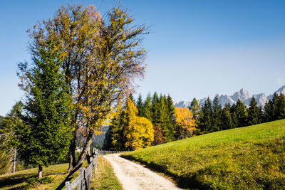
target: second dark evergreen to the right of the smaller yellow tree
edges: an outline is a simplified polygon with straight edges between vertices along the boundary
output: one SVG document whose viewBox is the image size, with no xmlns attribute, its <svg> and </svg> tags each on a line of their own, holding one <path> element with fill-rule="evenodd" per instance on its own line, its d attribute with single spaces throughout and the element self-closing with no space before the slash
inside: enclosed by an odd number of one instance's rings
<svg viewBox="0 0 285 190">
<path fill-rule="evenodd" d="M 199 117 L 199 130 L 202 133 L 207 133 L 212 131 L 213 125 L 213 111 L 212 111 L 212 102 L 209 97 L 202 105 L 202 110 Z"/>
</svg>

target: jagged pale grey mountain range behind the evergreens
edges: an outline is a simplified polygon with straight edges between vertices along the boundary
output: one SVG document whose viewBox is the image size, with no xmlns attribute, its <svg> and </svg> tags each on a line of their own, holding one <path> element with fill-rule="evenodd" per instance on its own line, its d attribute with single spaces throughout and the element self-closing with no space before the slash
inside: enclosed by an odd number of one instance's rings
<svg viewBox="0 0 285 190">
<path fill-rule="evenodd" d="M 279 88 L 279 90 L 276 90 L 274 93 L 277 94 L 284 94 L 285 95 L 285 85 L 282 86 L 281 88 Z M 273 94 L 274 94 L 273 93 Z M 255 98 L 255 100 L 257 100 L 257 105 L 264 107 L 265 103 L 269 100 L 271 100 L 271 98 L 273 97 L 273 94 L 269 95 L 266 97 L 266 95 L 264 93 L 260 93 L 257 95 L 249 95 L 249 92 L 247 90 L 245 90 L 244 88 L 242 88 L 241 90 L 239 90 L 238 92 L 234 93 L 233 95 L 222 95 L 222 94 L 217 94 L 219 103 L 222 105 L 222 107 L 224 107 L 224 105 L 226 103 L 229 103 L 230 105 L 234 104 L 234 102 L 237 102 L 237 100 L 242 100 L 242 102 L 244 102 L 244 105 L 246 105 L 247 107 L 249 107 L 250 101 L 252 100 L 252 97 Z M 202 99 L 199 99 L 199 105 L 203 105 L 204 102 L 206 101 L 207 97 L 204 97 Z M 213 100 L 213 98 L 212 98 Z M 190 106 L 190 102 L 185 102 L 185 101 L 180 101 L 178 103 L 175 104 L 175 107 L 189 107 Z"/>
</svg>

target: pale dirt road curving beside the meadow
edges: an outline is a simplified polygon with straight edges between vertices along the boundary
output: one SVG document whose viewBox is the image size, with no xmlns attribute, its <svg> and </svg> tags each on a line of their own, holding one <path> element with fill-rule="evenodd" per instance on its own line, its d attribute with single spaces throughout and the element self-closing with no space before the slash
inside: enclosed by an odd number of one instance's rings
<svg viewBox="0 0 285 190">
<path fill-rule="evenodd" d="M 171 181 L 149 169 L 119 157 L 119 154 L 104 156 L 112 164 L 115 175 L 125 190 L 179 189 Z"/>
</svg>

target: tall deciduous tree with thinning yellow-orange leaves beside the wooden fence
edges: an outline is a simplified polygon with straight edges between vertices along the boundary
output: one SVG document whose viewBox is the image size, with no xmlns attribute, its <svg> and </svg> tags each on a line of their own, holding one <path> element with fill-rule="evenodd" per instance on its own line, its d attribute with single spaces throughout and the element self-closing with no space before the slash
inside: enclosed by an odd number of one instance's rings
<svg viewBox="0 0 285 190">
<path fill-rule="evenodd" d="M 90 148 L 91 138 L 100 130 L 113 106 L 133 88 L 135 78 L 145 72 L 145 50 L 140 46 L 144 25 L 120 7 L 100 16 L 94 6 L 62 6 L 56 16 L 42 21 L 31 32 L 31 50 L 46 46 L 45 36 L 54 33 L 63 54 L 61 68 L 73 97 L 73 140 L 70 167 L 78 168 Z M 85 145 L 76 161 L 75 149 L 80 128 L 85 131 Z"/>
</svg>

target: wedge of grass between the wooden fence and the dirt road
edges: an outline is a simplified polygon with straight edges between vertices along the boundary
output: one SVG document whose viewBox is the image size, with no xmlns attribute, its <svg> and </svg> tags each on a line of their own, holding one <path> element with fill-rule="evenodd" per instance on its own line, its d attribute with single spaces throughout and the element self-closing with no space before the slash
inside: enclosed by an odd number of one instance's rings
<svg viewBox="0 0 285 190">
<path fill-rule="evenodd" d="M 98 168 L 95 178 L 91 181 L 91 189 L 118 189 L 123 190 L 111 164 L 103 157 L 98 157 Z"/>
</svg>

